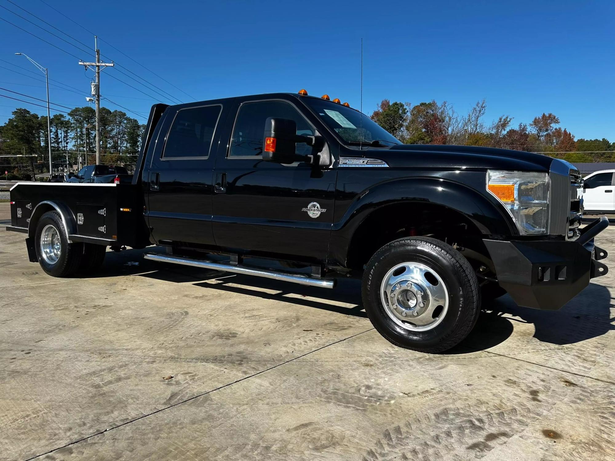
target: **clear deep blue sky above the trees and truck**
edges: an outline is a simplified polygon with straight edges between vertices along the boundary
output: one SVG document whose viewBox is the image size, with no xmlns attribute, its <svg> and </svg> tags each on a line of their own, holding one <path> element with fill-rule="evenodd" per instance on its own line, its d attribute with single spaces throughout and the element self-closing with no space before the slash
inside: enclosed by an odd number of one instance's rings
<svg viewBox="0 0 615 461">
<path fill-rule="evenodd" d="M 87 44 L 86 51 L 93 49 L 92 34 L 40 0 L 12 1 Z M 180 100 L 192 98 L 122 53 L 196 100 L 305 88 L 358 107 L 363 38 L 363 112 L 388 98 L 412 104 L 446 100 L 463 113 L 485 98 L 486 122 L 506 114 L 516 125 L 553 112 L 576 138 L 615 141 L 613 1 L 46 2 L 119 50 L 100 43 L 101 53 L 122 66 L 103 73 L 101 94 L 145 117 L 156 102 L 151 97 L 164 100 L 160 90 L 119 71 L 132 71 Z M 9 1 L 0 5 L 71 41 Z M 4 8 L 0 17 L 76 57 L 93 59 Z M 46 98 L 43 82 L 5 69 L 37 77 L 5 62 L 36 72 L 15 52 L 48 66 L 50 78 L 89 92 L 92 72 L 85 73 L 75 57 L 4 21 L 0 87 Z M 84 97 L 50 89 L 52 102 L 66 106 L 85 105 Z M 0 123 L 15 106 L 46 111 L 0 98 Z"/>
</svg>

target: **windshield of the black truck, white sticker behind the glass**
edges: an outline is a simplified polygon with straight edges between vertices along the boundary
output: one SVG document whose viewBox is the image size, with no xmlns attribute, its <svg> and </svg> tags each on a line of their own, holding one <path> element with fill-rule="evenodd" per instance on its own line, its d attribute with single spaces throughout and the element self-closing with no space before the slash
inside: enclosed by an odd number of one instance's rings
<svg viewBox="0 0 615 461">
<path fill-rule="evenodd" d="M 346 144 L 373 143 L 373 146 L 401 144 L 395 136 L 359 111 L 319 98 L 303 98 L 302 100 Z"/>
</svg>

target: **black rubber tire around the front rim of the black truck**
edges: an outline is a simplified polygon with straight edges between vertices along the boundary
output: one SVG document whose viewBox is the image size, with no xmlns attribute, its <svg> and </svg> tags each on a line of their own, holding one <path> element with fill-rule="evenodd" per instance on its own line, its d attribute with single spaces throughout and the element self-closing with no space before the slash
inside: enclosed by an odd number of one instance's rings
<svg viewBox="0 0 615 461">
<path fill-rule="evenodd" d="M 398 325 L 386 312 L 389 308 L 383 305 L 384 277 L 389 270 L 406 262 L 433 269 L 448 293 L 448 310 L 441 314 L 444 317 L 426 331 Z M 443 352 L 459 344 L 474 327 L 480 309 L 478 280 L 470 263 L 452 246 L 429 237 L 400 238 L 376 251 L 363 274 L 362 298 L 365 312 L 382 336 L 400 347 L 428 353 Z"/>
</svg>

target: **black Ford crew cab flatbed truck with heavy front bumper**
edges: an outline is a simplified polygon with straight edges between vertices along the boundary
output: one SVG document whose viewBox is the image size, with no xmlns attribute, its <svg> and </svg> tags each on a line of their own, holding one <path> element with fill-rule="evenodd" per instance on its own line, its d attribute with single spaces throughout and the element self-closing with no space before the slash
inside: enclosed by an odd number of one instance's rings
<svg viewBox="0 0 615 461">
<path fill-rule="evenodd" d="M 145 258 L 323 288 L 360 278 L 375 328 L 423 352 L 458 344 L 481 302 L 560 309 L 608 270 L 593 244 L 608 221 L 581 229 L 573 165 L 405 145 L 304 90 L 156 104 L 136 168 L 131 184 L 17 184 L 7 230 L 55 277 L 95 270 L 107 246 L 159 245 Z"/>
</svg>

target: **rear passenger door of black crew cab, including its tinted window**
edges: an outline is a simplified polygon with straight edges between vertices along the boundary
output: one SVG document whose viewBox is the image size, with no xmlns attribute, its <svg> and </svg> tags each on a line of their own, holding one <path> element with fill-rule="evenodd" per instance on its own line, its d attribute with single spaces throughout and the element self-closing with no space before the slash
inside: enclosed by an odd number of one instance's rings
<svg viewBox="0 0 615 461">
<path fill-rule="evenodd" d="M 169 111 L 143 181 L 146 217 L 158 243 L 213 245 L 212 170 L 220 138 L 223 104 L 183 106 Z M 212 148 L 212 146 L 214 146 Z"/>
</svg>

